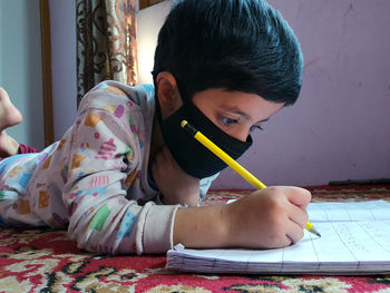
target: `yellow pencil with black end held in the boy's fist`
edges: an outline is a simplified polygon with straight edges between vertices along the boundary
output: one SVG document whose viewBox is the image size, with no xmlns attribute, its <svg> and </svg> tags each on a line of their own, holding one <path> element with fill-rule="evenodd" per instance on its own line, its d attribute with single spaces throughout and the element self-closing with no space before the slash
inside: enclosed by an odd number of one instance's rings
<svg viewBox="0 0 390 293">
<path fill-rule="evenodd" d="M 232 169 L 238 173 L 244 179 L 251 183 L 257 189 L 266 188 L 266 186 L 259 180 L 255 176 L 253 176 L 247 169 L 241 166 L 234 158 L 223 152 L 218 146 L 216 146 L 212 140 L 205 137 L 201 131 L 196 130 L 193 126 L 191 126 L 186 120 L 181 123 L 181 126 L 188 131 L 189 135 L 194 136 L 196 140 L 198 140 L 202 145 L 208 148 L 214 155 L 225 162 Z M 312 223 L 308 222 L 305 228 L 320 236 L 321 234 L 315 229 Z"/>
</svg>

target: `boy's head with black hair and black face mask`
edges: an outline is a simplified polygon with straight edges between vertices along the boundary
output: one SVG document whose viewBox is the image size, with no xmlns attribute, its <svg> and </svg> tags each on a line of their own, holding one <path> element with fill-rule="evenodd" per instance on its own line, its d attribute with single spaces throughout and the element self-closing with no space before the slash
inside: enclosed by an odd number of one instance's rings
<svg viewBox="0 0 390 293">
<path fill-rule="evenodd" d="M 182 119 L 238 158 L 253 127 L 295 102 L 302 67 L 293 31 L 265 0 L 176 1 L 153 77 L 159 128 L 178 165 L 198 178 L 226 167 L 181 129 Z"/>
</svg>

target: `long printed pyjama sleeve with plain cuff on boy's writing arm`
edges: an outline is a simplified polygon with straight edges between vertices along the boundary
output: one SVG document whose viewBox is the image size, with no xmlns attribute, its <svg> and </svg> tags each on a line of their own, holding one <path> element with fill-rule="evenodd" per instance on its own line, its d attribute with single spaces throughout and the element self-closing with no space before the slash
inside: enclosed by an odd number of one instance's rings
<svg viewBox="0 0 390 293">
<path fill-rule="evenodd" d="M 68 141 L 62 141 L 69 162 L 62 193 L 68 233 L 80 248 L 98 253 L 166 252 L 173 245 L 177 206 L 140 206 L 127 199 L 143 167 L 137 137 L 143 126 L 131 127 L 127 121 L 142 119 L 124 107 L 84 107 Z"/>
</svg>

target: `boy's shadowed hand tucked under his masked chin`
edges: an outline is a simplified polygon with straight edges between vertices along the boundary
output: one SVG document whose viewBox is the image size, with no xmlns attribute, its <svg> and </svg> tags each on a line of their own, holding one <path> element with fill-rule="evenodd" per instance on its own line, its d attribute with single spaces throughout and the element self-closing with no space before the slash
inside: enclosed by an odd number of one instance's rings
<svg viewBox="0 0 390 293">
<path fill-rule="evenodd" d="M 167 205 L 196 206 L 199 199 L 199 179 L 186 174 L 170 152 L 164 147 L 152 163 L 152 174 Z"/>
</svg>

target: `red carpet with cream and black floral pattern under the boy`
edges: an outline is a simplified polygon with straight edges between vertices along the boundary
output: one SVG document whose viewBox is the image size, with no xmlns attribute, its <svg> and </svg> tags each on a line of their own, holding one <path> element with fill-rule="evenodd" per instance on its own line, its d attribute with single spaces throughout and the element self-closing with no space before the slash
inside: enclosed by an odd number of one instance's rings
<svg viewBox="0 0 390 293">
<path fill-rule="evenodd" d="M 310 187 L 313 201 L 390 199 L 390 185 Z M 222 204 L 247 191 L 218 191 Z M 390 292 L 390 275 L 201 275 L 164 270 L 165 256 L 78 251 L 62 231 L 0 228 L 0 292 Z"/>
</svg>

